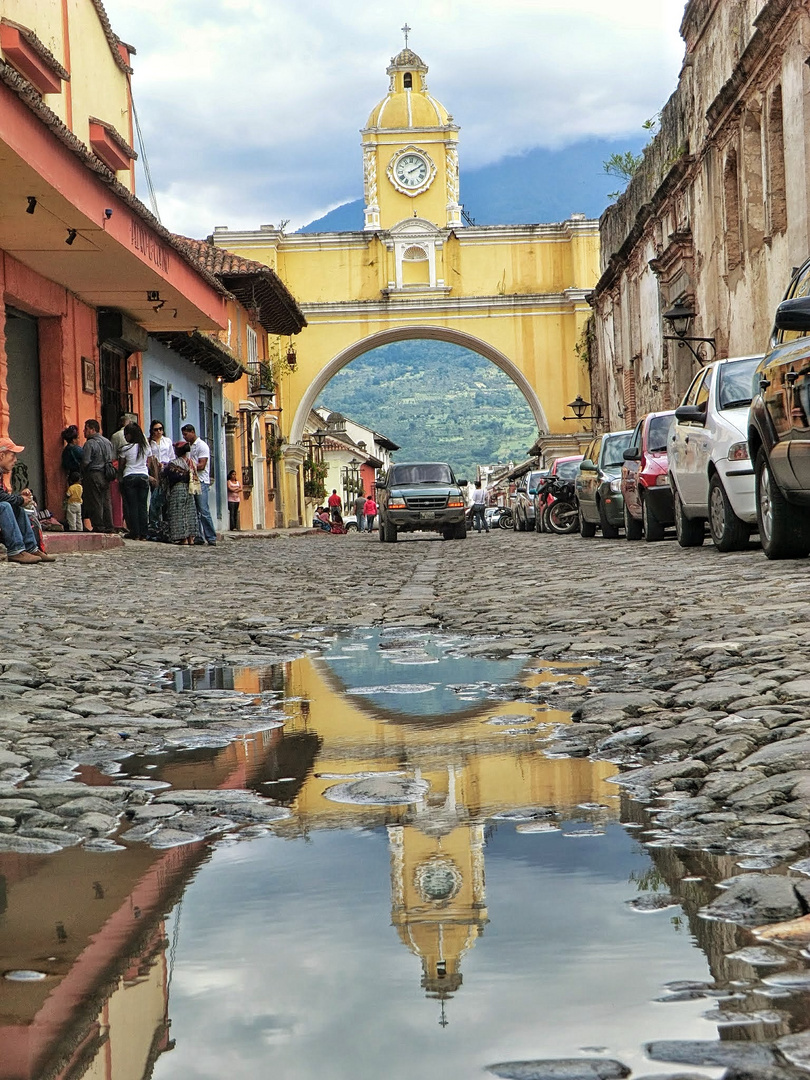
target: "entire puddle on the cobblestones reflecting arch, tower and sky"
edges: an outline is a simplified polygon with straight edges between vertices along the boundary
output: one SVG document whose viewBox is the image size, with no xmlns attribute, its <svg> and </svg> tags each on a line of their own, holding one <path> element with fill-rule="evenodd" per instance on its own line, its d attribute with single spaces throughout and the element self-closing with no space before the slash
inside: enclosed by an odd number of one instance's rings
<svg viewBox="0 0 810 1080">
<path fill-rule="evenodd" d="M 810 1026 L 805 961 L 699 917 L 731 856 L 643 847 L 615 766 L 543 754 L 567 719 L 544 692 L 581 667 L 491 653 L 359 631 L 167 676 L 242 694 L 261 730 L 133 755 L 119 779 L 247 788 L 283 816 L 0 854 L 0 1078 L 716 1078 L 743 1051 L 770 1067 L 766 1040 Z M 177 812 L 161 798 L 150 827 Z"/>
</svg>

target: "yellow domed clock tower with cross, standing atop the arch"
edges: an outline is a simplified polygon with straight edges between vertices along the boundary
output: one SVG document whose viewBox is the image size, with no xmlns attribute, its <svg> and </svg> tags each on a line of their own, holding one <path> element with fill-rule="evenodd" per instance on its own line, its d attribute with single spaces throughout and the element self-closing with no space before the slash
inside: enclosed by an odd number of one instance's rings
<svg viewBox="0 0 810 1080">
<path fill-rule="evenodd" d="M 409 28 L 408 28 L 409 30 Z M 458 124 L 428 91 L 428 65 L 407 46 L 388 67 L 386 97 L 363 129 L 365 229 L 420 218 L 461 225 Z"/>
</svg>

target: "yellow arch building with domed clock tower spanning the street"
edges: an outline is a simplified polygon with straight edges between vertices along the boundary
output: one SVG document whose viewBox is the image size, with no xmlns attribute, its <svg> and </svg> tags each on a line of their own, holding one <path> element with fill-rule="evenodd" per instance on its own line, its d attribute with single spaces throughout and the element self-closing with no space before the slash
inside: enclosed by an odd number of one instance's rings
<svg viewBox="0 0 810 1080">
<path fill-rule="evenodd" d="M 363 129 L 364 229 L 215 229 L 213 241 L 272 267 L 307 316 L 285 373 L 285 524 L 300 498 L 310 409 L 342 367 L 392 341 L 438 339 L 480 353 L 521 389 L 543 435 L 565 444 L 567 403 L 589 393 L 577 346 L 598 276 L 598 222 L 474 226 L 459 202 L 459 127 L 404 49 Z M 374 423 L 373 417 L 359 417 Z M 552 440 L 553 441 L 553 440 Z"/>
</svg>

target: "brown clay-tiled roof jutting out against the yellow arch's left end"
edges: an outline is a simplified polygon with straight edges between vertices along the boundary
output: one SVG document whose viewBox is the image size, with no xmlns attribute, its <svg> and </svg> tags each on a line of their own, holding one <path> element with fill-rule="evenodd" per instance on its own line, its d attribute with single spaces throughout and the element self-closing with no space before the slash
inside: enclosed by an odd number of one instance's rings
<svg viewBox="0 0 810 1080">
<path fill-rule="evenodd" d="M 264 262 L 234 255 L 208 240 L 175 237 L 175 242 L 218 278 L 240 303 L 257 308 L 258 321 L 269 334 L 297 334 L 307 325 L 296 298 L 276 272 Z"/>
</svg>

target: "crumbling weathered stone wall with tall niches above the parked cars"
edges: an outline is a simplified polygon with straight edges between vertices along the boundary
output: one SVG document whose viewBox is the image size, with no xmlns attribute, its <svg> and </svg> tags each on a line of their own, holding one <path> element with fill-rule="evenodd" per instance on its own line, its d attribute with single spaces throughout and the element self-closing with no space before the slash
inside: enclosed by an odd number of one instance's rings
<svg viewBox="0 0 810 1080">
<path fill-rule="evenodd" d="M 612 429 L 676 405 L 700 366 L 665 339 L 676 300 L 717 355 L 761 352 L 810 254 L 810 0 L 690 0 L 681 37 L 677 89 L 599 226 L 592 397 Z"/>
</svg>

